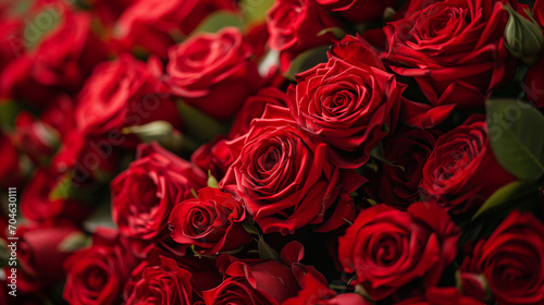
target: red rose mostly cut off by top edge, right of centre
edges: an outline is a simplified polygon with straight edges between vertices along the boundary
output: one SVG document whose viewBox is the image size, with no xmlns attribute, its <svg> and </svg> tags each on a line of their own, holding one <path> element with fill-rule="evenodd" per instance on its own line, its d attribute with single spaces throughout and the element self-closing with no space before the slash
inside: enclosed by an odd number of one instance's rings
<svg viewBox="0 0 544 305">
<path fill-rule="evenodd" d="M 383 17 L 386 8 L 395 8 L 396 0 L 316 0 L 335 13 L 354 23 L 374 21 Z"/>
</svg>

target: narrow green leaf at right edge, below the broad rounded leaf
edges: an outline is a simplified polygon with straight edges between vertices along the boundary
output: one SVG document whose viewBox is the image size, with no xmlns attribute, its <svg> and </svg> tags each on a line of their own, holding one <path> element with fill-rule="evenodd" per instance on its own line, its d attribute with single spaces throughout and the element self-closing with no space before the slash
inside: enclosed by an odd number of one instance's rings
<svg viewBox="0 0 544 305">
<path fill-rule="evenodd" d="M 537 207 L 539 202 L 531 203 L 532 198 L 539 198 L 539 185 L 534 182 L 516 181 L 498 188 L 493 193 L 480 209 L 472 216 L 472 220 L 481 216 L 492 215 L 497 209 L 511 209 L 521 203 Z"/>
</svg>

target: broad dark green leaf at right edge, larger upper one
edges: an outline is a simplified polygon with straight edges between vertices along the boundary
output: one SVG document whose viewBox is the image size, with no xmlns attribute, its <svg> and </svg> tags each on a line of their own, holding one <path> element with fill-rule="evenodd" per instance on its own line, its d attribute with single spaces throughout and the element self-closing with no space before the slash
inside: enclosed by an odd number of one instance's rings
<svg viewBox="0 0 544 305">
<path fill-rule="evenodd" d="M 544 117 L 529 103 L 487 100 L 490 143 L 500 166 L 520 180 L 544 173 Z"/>
</svg>

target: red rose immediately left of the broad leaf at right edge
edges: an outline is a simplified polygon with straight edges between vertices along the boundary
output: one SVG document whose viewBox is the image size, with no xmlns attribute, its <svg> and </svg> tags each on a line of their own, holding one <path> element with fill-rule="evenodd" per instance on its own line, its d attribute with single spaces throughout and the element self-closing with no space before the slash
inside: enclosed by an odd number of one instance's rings
<svg viewBox="0 0 544 305">
<path fill-rule="evenodd" d="M 459 213 L 478 209 L 497 188 L 515 180 L 493 155 L 483 117 L 473 115 L 438 137 L 420 186 L 426 200 Z"/>
</svg>

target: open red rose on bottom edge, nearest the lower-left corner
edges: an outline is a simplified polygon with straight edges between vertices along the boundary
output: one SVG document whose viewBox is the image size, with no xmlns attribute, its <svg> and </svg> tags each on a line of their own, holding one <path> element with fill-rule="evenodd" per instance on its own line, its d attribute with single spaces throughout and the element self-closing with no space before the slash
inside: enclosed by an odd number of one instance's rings
<svg viewBox="0 0 544 305">
<path fill-rule="evenodd" d="M 74 305 L 121 304 L 123 285 L 136 264 L 125 240 L 111 229 L 100 229 L 91 247 L 64 263 L 67 279 L 63 297 Z"/>
</svg>

